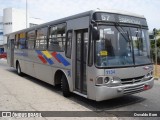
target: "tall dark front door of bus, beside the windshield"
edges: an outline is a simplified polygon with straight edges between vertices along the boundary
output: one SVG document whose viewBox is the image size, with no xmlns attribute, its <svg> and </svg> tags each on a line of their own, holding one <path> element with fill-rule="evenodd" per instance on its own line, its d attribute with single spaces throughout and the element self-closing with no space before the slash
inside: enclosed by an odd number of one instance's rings
<svg viewBox="0 0 160 120">
<path fill-rule="evenodd" d="M 75 31 L 75 90 L 87 94 L 86 59 L 88 44 L 88 29 Z"/>
</svg>

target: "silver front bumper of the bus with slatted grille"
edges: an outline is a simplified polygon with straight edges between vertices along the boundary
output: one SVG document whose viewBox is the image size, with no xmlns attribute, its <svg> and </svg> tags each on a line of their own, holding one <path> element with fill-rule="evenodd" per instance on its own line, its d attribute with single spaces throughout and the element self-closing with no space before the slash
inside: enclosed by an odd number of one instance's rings
<svg viewBox="0 0 160 120">
<path fill-rule="evenodd" d="M 154 78 L 145 82 L 128 84 L 123 86 L 107 87 L 95 86 L 96 101 L 108 100 L 123 95 L 135 94 L 148 89 L 151 89 L 154 84 Z"/>
</svg>

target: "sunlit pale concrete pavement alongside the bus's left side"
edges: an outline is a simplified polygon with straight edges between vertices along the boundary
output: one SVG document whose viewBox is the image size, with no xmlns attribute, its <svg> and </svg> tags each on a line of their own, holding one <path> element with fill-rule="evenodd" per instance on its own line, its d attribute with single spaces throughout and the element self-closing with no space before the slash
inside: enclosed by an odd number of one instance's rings
<svg viewBox="0 0 160 120">
<path fill-rule="evenodd" d="M 30 76 L 18 76 L 14 68 L 7 66 L 6 60 L 0 60 L 0 111 L 91 111 L 91 109 L 63 97 L 59 88 Z M 53 120 L 64 118 L 30 119 Z M 72 117 L 65 119 L 85 118 Z M 91 117 L 87 119 L 117 120 L 116 117 Z"/>
</svg>

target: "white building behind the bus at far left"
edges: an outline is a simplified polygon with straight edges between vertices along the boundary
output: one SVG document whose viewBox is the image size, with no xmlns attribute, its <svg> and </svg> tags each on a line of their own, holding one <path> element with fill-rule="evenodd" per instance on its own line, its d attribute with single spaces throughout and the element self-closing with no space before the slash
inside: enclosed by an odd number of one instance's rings
<svg viewBox="0 0 160 120">
<path fill-rule="evenodd" d="M 5 34 L 44 23 L 44 21 L 41 19 L 31 18 L 29 16 L 29 13 L 27 14 L 27 16 L 28 17 L 26 24 L 25 10 L 16 8 L 3 9 L 3 17 L 0 17 L 0 47 L 6 47 L 7 37 L 5 36 Z"/>
</svg>

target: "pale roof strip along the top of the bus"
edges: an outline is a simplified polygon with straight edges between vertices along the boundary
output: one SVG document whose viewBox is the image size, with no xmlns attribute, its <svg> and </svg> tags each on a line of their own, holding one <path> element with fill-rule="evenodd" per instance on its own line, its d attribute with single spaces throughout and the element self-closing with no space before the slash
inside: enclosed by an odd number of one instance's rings
<svg viewBox="0 0 160 120">
<path fill-rule="evenodd" d="M 51 24 L 64 23 L 67 20 L 76 19 L 76 18 L 79 18 L 79 17 L 89 16 L 89 15 L 92 15 L 93 13 L 95 13 L 95 12 L 108 12 L 108 13 L 113 13 L 113 14 L 134 16 L 134 17 L 137 17 L 137 18 L 145 18 L 143 15 L 138 15 L 138 14 L 130 13 L 130 12 L 126 12 L 126 11 L 113 10 L 113 9 L 108 9 L 108 10 L 99 10 L 99 9 L 97 9 L 97 10 L 90 10 L 90 11 L 79 13 L 79 14 L 76 14 L 76 15 L 71 15 L 69 17 L 53 20 L 53 21 L 50 21 L 50 22 L 47 22 L 47 23 L 36 25 L 34 27 L 31 27 L 31 28 L 26 28 L 26 29 L 22 29 L 22 30 L 19 30 L 19 31 L 15 31 L 15 32 L 6 34 L 6 36 L 11 35 L 11 34 L 17 34 L 17 33 L 20 33 L 20 32 L 27 32 L 27 31 L 31 31 L 31 30 L 36 30 L 36 29 L 41 28 L 41 27 L 50 26 Z"/>
</svg>

